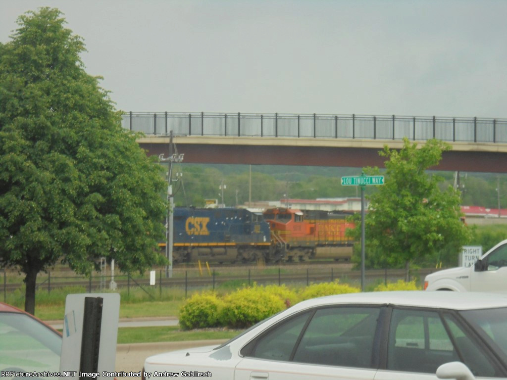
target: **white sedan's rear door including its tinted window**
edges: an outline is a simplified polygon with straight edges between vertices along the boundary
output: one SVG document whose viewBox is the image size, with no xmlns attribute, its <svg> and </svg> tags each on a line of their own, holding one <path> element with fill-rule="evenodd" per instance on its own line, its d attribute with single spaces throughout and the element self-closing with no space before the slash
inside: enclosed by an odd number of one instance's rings
<svg viewBox="0 0 507 380">
<path fill-rule="evenodd" d="M 373 380 L 379 307 L 327 307 L 281 321 L 240 350 L 235 380 Z"/>
</svg>

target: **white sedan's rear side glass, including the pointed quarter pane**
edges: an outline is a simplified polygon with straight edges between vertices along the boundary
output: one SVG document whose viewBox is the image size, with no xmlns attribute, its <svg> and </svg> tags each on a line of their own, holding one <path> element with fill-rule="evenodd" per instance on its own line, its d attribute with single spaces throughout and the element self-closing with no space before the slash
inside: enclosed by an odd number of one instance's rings
<svg viewBox="0 0 507 380">
<path fill-rule="evenodd" d="M 311 314 L 280 323 L 246 345 L 241 354 L 310 364 L 372 366 L 380 308 L 333 307 Z"/>
</svg>

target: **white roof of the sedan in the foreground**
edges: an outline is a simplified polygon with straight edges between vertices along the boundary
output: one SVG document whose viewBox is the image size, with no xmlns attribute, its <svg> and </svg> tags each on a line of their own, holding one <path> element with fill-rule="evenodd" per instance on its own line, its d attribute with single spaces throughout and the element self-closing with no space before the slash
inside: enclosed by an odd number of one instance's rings
<svg viewBox="0 0 507 380">
<path fill-rule="evenodd" d="M 507 294 L 453 291 L 386 291 L 347 293 L 313 298 L 295 308 L 340 305 L 395 305 L 432 309 L 477 310 L 507 307 Z"/>
</svg>

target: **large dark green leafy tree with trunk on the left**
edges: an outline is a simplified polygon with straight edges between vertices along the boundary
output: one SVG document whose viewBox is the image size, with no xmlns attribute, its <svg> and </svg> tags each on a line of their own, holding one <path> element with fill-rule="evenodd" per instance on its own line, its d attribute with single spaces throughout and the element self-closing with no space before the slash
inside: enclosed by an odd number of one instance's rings
<svg viewBox="0 0 507 380">
<path fill-rule="evenodd" d="M 33 313 L 38 273 L 60 260 L 82 274 L 100 257 L 160 264 L 166 203 L 158 164 L 85 72 L 81 37 L 57 9 L 18 25 L 0 44 L 0 265 L 25 274 Z"/>
</svg>

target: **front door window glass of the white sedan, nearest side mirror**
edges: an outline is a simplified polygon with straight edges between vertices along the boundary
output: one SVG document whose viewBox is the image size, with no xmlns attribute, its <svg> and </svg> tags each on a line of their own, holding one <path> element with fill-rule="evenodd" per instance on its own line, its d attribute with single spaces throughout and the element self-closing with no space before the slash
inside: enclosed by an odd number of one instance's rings
<svg viewBox="0 0 507 380">
<path fill-rule="evenodd" d="M 387 369 L 435 373 L 458 355 L 437 312 L 393 309 Z"/>
</svg>

